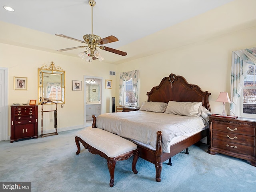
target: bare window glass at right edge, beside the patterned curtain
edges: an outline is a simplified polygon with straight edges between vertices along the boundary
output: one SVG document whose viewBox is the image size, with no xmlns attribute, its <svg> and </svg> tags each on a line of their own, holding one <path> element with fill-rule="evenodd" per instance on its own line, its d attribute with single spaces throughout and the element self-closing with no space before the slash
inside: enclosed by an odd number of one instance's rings
<svg viewBox="0 0 256 192">
<path fill-rule="evenodd" d="M 249 65 L 242 89 L 242 116 L 256 114 L 256 67 Z"/>
</svg>

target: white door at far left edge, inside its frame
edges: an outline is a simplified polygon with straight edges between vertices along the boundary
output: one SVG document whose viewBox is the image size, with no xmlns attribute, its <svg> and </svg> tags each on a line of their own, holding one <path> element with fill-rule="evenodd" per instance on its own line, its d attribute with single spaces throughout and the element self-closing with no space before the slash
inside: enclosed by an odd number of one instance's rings
<svg viewBox="0 0 256 192">
<path fill-rule="evenodd" d="M 7 105 L 7 69 L 0 68 L 0 141 L 7 140 L 8 131 Z"/>
</svg>

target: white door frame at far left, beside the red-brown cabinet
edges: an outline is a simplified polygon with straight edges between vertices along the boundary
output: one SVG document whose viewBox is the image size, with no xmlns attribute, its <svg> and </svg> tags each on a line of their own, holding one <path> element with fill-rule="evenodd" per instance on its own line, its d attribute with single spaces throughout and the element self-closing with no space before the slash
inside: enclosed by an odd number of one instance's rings
<svg viewBox="0 0 256 192">
<path fill-rule="evenodd" d="M 3 112 L 3 129 L 4 140 L 8 140 L 8 68 L 0 67 L 4 70 L 4 112 Z"/>
</svg>

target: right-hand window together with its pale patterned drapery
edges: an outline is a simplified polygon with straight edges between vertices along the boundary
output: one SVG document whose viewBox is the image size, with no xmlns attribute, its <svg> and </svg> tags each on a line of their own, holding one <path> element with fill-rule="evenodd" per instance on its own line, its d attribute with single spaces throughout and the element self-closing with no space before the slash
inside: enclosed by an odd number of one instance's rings
<svg viewBox="0 0 256 192">
<path fill-rule="evenodd" d="M 232 52 L 231 115 L 256 118 L 255 66 L 256 47 Z"/>
</svg>

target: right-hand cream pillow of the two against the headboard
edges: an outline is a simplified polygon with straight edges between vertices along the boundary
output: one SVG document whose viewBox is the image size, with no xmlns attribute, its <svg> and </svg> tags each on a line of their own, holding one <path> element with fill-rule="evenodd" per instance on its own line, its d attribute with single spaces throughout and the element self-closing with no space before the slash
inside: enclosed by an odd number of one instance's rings
<svg viewBox="0 0 256 192">
<path fill-rule="evenodd" d="M 175 115 L 200 116 L 201 110 L 202 102 L 169 101 L 165 112 Z"/>
</svg>

